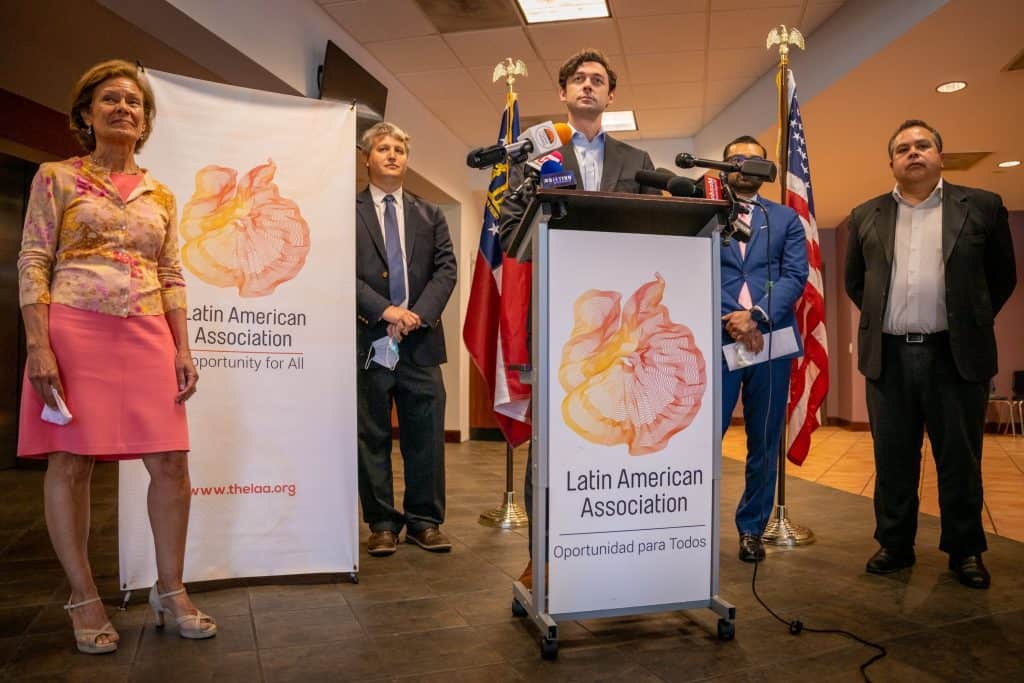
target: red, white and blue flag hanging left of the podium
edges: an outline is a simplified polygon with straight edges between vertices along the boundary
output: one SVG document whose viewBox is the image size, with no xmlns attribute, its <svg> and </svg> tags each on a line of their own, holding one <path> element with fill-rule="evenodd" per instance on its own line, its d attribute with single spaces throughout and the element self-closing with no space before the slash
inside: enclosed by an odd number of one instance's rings
<svg viewBox="0 0 1024 683">
<path fill-rule="evenodd" d="M 519 102 L 509 93 L 498 131 L 499 144 L 519 137 Z M 490 172 L 487 203 L 483 208 L 480 250 L 473 269 L 469 306 L 462 338 L 469 355 L 487 384 L 495 419 L 505 440 L 519 445 L 530 436 L 529 386 L 510 371 L 509 364 L 528 361 L 526 314 L 529 309 L 529 264 L 504 256 L 498 217 L 508 190 L 508 163 Z M 504 294 L 503 294 L 504 293 Z"/>
</svg>

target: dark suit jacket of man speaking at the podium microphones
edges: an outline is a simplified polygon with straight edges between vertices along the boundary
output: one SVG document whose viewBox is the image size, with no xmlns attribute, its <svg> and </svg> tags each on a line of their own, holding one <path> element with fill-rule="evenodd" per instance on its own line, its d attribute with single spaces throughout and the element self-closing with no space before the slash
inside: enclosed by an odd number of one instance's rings
<svg viewBox="0 0 1024 683">
<path fill-rule="evenodd" d="M 566 142 L 558 151 L 562 155 L 562 166 L 566 171 L 572 171 L 577 179 L 578 189 L 583 189 L 583 176 L 580 174 L 580 162 L 575 158 L 572 142 Z M 660 195 L 660 190 L 644 186 L 636 181 L 637 171 L 652 171 L 654 163 L 650 155 L 605 134 L 604 165 L 601 168 L 602 193 L 633 193 L 634 195 Z M 509 187 L 518 187 L 522 182 L 524 164 L 516 164 L 509 169 Z M 501 230 L 502 249 L 507 251 L 509 242 L 515 234 L 515 228 L 522 220 L 529 204 L 528 197 L 506 197 L 502 202 L 502 214 L 498 221 Z"/>
</svg>

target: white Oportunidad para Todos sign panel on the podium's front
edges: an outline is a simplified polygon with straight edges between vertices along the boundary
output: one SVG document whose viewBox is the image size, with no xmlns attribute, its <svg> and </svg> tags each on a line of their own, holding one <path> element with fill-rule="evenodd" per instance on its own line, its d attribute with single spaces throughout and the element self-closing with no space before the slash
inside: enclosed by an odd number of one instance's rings
<svg viewBox="0 0 1024 683">
<path fill-rule="evenodd" d="M 557 229 L 549 244 L 549 611 L 707 601 L 711 241 Z"/>
</svg>

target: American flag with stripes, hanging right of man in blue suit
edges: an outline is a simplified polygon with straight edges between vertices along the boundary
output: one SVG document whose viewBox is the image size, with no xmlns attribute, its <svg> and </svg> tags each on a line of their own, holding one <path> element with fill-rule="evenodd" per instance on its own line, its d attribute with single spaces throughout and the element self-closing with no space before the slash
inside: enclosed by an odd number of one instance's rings
<svg viewBox="0 0 1024 683">
<path fill-rule="evenodd" d="M 825 337 L 825 299 L 821 282 L 821 248 L 814 220 L 811 165 L 807 158 L 804 122 L 797 101 L 797 81 L 786 72 L 790 119 L 790 155 L 785 174 L 785 205 L 800 215 L 807 234 L 809 274 L 804 294 L 797 302 L 797 324 L 804 342 L 804 355 L 795 358 L 790 373 L 790 404 L 786 410 L 786 457 L 801 465 L 811 449 L 811 433 L 821 424 L 818 411 L 828 391 L 828 343 Z"/>
</svg>

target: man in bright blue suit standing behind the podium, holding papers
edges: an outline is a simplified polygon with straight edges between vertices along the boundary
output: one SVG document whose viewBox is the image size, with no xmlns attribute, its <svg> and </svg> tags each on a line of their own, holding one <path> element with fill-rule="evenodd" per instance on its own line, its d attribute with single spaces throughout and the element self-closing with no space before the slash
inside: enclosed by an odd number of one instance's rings
<svg viewBox="0 0 1024 683">
<path fill-rule="evenodd" d="M 723 153 L 723 159 L 734 162 L 766 157 L 764 145 L 750 135 L 737 137 Z M 727 182 L 751 210 L 737 218 L 744 231 L 750 227 L 751 239 L 722 247 L 722 342 L 736 344 L 739 351 L 733 370 L 723 353 L 722 435 L 742 390 L 746 485 L 736 508 L 736 529 L 739 559 L 757 562 L 765 557 L 761 535 L 775 500 L 791 360 L 803 353 L 795 306 L 807 283 L 807 238 L 796 211 L 758 196 L 762 180 L 730 173 Z M 776 343 L 785 349 L 781 338 L 788 336 L 787 329 L 796 350 L 773 350 Z M 766 346 L 770 359 L 754 362 Z"/>
</svg>

